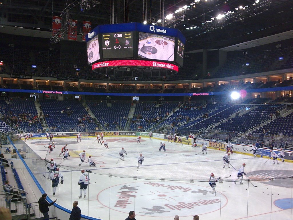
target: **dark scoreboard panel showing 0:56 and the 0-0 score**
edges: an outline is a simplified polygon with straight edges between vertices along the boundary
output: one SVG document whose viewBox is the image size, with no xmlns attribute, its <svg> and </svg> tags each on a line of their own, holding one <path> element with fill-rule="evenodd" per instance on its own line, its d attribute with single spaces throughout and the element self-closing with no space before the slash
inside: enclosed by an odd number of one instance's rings
<svg viewBox="0 0 293 220">
<path fill-rule="evenodd" d="M 133 32 L 103 33 L 103 59 L 133 57 Z"/>
</svg>

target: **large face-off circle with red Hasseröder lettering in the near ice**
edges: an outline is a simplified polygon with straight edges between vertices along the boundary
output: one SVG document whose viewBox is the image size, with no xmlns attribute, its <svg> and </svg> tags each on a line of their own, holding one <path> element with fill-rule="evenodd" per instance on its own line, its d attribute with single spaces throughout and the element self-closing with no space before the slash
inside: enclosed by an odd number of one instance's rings
<svg viewBox="0 0 293 220">
<path fill-rule="evenodd" d="M 227 204 L 224 194 L 219 199 L 210 187 L 181 182 L 149 181 L 112 186 L 98 194 L 98 201 L 105 207 L 108 207 L 109 194 L 112 204 L 110 209 L 128 213 L 127 210 L 135 202 L 136 215 L 151 217 L 170 218 L 176 214 L 193 216 L 194 213 L 202 215 Z"/>
</svg>

